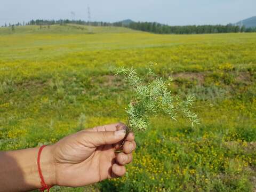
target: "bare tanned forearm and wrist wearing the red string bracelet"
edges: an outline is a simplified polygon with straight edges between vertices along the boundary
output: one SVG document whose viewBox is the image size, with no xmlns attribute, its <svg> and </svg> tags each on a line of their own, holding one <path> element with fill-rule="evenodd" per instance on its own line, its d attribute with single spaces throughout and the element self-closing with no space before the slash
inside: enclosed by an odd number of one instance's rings
<svg viewBox="0 0 256 192">
<path fill-rule="evenodd" d="M 0 191 L 27 191 L 41 187 L 37 168 L 39 148 L 0 152 Z M 54 185 L 51 146 L 43 149 L 41 169 L 47 185 Z"/>
</svg>

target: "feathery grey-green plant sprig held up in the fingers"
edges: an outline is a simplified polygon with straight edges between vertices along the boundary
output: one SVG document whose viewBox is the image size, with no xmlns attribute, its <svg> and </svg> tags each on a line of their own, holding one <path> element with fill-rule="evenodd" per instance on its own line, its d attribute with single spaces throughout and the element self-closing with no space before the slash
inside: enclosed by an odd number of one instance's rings
<svg viewBox="0 0 256 192">
<path fill-rule="evenodd" d="M 177 116 L 182 114 L 189 119 L 192 126 L 199 124 L 197 114 L 190 110 L 195 102 L 195 95 L 186 95 L 185 100 L 179 95 L 173 95 L 167 88 L 172 81 L 171 77 L 164 81 L 157 77 L 150 67 L 143 78 L 138 76 L 135 69 L 124 67 L 117 68 L 115 75 L 122 75 L 132 89 L 132 99 L 126 108 L 127 132 L 146 130 L 149 116 L 157 114 L 168 115 L 175 121 Z M 147 77 L 154 79 L 146 82 Z"/>
</svg>

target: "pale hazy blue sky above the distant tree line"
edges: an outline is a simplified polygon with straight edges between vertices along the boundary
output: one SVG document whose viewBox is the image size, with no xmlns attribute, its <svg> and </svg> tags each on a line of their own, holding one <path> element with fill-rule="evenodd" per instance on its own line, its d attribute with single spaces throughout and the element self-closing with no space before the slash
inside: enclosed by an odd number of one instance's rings
<svg viewBox="0 0 256 192">
<path fill-rule="evenodd" d="M 31 19 L 124 19 L 167 25 L 235 23 L 256 15 L 255 0 L 0 0 L 0 26 Z M 75 13 L 75 17 L 71 12 Z"/>
</svg>

